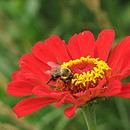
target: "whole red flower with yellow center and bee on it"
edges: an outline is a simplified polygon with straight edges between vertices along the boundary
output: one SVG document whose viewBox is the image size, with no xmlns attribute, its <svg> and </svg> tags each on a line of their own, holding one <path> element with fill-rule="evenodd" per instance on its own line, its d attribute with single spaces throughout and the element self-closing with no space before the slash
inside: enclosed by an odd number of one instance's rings
<svg viewBox="0 0 130 130">
<path fill-rule="evenodd" d="M 13 96 L 31 96 L 14 108 L 18 117 L 55 103 L 72 104 L 64 113 L 72 117 L 78 107 L 97 97 L 130 97 L 130 83 L 121 80 L 130 75 L 130 36 L 111 51 L 113 30 L 103 30 L 97 40 L 91 32 L 75 34 L 65 44 L 53 35 L 38 42 L 32 52 L 19 61 L 8 92 Z"/>
</svg>

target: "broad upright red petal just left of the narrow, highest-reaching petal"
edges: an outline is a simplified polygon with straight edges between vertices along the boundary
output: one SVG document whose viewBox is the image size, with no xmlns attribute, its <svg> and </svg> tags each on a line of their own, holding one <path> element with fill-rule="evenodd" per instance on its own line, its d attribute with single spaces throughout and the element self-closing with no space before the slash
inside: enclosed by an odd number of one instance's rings
<svg viewBox="0 0 130 130">
<path fill-rule="evenodd" d="M 68 50 L 73 59 L 81 56 L 93 56 L 94 36 L 91 32 L 85 31 L 75 34 L 69 40 Z"/>
</svg>

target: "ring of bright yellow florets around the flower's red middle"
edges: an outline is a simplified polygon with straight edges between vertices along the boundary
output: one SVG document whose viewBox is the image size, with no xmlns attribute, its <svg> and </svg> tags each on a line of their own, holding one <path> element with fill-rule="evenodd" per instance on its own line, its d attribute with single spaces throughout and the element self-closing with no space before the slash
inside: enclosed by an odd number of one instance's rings
<svg viewBox="0 0 130 130">
<path fill-rule="evenodd" d="M 89 87 L 90 85 L 95 85 L 99 80 L 105 77 L 107 71 L 111 70 L 105 61 L 90 56 L 64 62 L 61 68 L 70 68 L 72 65 L 77 65 L 82 62 L 94 64 L 95 66 L 87 72 L 74 73 L 71 79 L 71 84 L 74 86 Z"/>
</svg>

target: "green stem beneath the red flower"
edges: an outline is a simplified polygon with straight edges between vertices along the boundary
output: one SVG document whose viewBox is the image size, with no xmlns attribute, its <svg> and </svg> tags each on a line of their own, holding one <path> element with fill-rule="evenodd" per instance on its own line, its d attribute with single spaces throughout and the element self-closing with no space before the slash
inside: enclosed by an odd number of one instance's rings
<svg viewBox="0 0 130 130">
<path fill-rule="evenodd" d="M 93 105 L 88 104 L 83 108 L 82 113 L 88 130 L 96 130 L 96 116 Z"/>
</svg>

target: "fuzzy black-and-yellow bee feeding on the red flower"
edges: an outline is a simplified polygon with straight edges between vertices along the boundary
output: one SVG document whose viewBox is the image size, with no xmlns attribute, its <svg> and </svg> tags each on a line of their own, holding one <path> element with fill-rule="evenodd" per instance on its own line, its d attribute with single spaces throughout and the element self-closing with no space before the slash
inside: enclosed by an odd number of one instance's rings
<svg viewBox="0 0 130 130">
<path fill-rule="evenodd" d="M 63 82 L 68 82 L 73 78 L 73 73 L 71 72 L 69 68 L 57 67 L 52 70 L 51 78 L 47 82 L 47 84 L 52 80 L 56 81 L 58 78 L 60 78 Z"/>
</svg>

